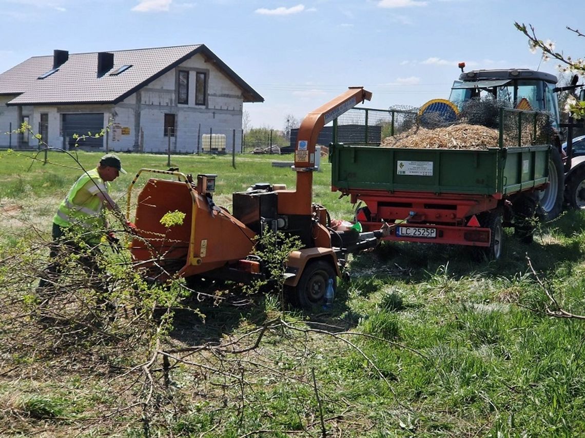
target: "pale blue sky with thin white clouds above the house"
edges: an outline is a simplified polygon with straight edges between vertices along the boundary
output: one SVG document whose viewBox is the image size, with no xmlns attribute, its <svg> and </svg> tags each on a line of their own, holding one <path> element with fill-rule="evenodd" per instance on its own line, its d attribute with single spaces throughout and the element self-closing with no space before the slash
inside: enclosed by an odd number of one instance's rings
<svg viewBox="0 0 585 438">
<path fill-rule="evenodd" d="M 0 0 L 0 71 L 32 56 L 205 44 L 264 98 L 251 127 L 283 129 L 363 86 L 364 107 L 422 106 L 449 97 L 459 62 L 532 68 L 514 22 L 556 51 L 585 56 L 585 1 L 549 0 Z M 581 32 L 585 29 L 579 29 Z M 583 32 L 585 33 L 585 32 Z"/>
</svg>

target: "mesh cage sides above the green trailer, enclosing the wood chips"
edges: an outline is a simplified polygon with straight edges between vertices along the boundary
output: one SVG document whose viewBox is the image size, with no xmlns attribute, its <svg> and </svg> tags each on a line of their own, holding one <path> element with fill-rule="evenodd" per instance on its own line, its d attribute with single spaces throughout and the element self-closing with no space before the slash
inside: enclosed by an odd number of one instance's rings
<svg viewBox="0 0 585 438">
<path fill-rule="evenodd" d="M 459 107 L 435 99 L 420 109 L 394 106 L 387 110 L 349 110 L 333 121 L 333 142 L 471 149 L 551 144 L 555 135 L 552 120 L 548 112 L 514 109 L 496 99 L 471 99 Z M 442 140 L 436 141 L 439 137 Z"/>
</svg>

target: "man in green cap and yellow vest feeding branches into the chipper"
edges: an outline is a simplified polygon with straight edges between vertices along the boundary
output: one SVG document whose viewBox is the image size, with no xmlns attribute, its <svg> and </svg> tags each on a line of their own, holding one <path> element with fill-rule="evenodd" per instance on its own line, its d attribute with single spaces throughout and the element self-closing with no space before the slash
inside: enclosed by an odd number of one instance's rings
<svg viewBox="0 0 585 438">
<path fill-rule="evenodd" d="M 76 253 L 81 265 L 90 273 L 99 273 L 98 246 L 104 235 L 107 235 L 108 227 L 104 207 L 119 211 L 108 193 L 109 183 L 118 178 L 120 173 L 126 171 L 118 156 L 106 154 L 95 169 L 84 172 L 71 186 L 53 217 L 53 242 L 49 254 L 51 263 L 43 273 L 40 288 L 53 284 L 56 274 L 59 274 L 62 245 L 68 252 Z M 109 238 L 115 239 L 113 235 L 109 235 Z M 99 281 L 98 288 L 103 289 L 103 280 Z"/>
</svg>

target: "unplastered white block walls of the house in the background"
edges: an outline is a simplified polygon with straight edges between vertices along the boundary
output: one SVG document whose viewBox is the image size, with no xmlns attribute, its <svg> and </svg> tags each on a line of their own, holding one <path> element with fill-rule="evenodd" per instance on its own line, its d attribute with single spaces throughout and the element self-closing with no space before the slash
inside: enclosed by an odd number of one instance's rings
<svg viewBox="0 0 585 438">
<path fill-rule="evenodd" d="M 189 103 L 177 105 L 177 71 L 187 69 L 189 75 Z M 195 101 L 195 71 L 205 71 L 208 74 L 208 105 L 197 106 Z M 18 109 L 6 107 L 8 98 L 0 96 L 0 130 L 18 128 Z M 176 117 L 176 135 L 171 137 L 172 152 L 196 152 L 198 138 L 202 134 L 226 135 L 226 151 L 230 152 L 233 145 L 233 130 L 236 130 L 236 151 L 241 150 L 242 140 L 242 92 L 213 64 L 205 62 L 201 55 L 195 55 L 182 65 L 167 72 L 160 78 L 147 84 L 137 94 L 131 95 L 123 102 L 112 108 L 111 105 L 93 106 L 60 106 L 24 108 L 23 114 L 30 116 L 30 125 L 33 131 L 38 130 L 40 113 L 49 114 L 49 145 L 63 147 L 64 139 L 61 133 L 61 114 L 77 112 L 104 113 L 104 127 L 108 124 L 110 114 L 113 115 L 113 125 L 108 133 L 108 147 L 112 151 L 136 150 L 140 145 L 140 131 L 142 129 L 144 152 L 166 152 L 168 138 L 164 135 L 164 114 L 173 113 Z M 124 128 L 124 129 L 122 129 Z M 129 133 L 129 134 L 122 134 Z M 80 133 L 82 134 L 82 133 Z M 8 145 L 8 135 L 0 138 L 0 146 Z M 13 147 L 16 138 L 12 136 Z M 103 140 L 105 150 L 106 137 Z M 36 140 L 30 141 L 30 147 L 36 147 Z M 199 148 L 201 148 L 199 140 Z"/>
</svg>

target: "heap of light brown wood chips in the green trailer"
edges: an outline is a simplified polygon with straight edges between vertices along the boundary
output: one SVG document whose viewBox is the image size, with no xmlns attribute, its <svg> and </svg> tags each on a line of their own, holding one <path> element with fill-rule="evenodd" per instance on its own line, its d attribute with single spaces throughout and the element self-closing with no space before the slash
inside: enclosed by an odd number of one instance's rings
<svg viewBox="0 0 585 438">
<path fill-rule="evenodd" d="M 466 123 L 435 129 L 415 126 L 382 140 L 381 147 L 485 150 L 498 146 L 498 130 Z"/>
</svg>

